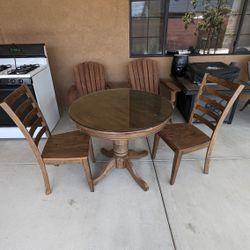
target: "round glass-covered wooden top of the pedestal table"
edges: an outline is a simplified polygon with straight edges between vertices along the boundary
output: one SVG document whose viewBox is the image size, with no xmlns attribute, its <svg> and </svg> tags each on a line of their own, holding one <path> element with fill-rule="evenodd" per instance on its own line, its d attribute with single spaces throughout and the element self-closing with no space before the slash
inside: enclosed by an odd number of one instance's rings
<svg viewBox="0 0 250 250">
<path fill-rule="evenodd" d="M 158 132 L 172 112 L 165 97 L 123 88 L 82 96 L 70 106 L 69 115 L 83 132 L 121 139 Z"/>
</svg>

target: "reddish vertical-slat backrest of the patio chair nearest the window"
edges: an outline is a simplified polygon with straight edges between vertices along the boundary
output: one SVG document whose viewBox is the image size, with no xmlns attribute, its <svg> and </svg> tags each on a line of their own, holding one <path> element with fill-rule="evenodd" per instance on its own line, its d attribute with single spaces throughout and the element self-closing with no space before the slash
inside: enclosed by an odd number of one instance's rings
<svg viewBox="0 0 250 250">
<path fill-rule="evenodd" d="M 128 70 L 132 89 L 159 94 L 159 74 L 156 61 L 136 59 L 129 63 Z"/>
</svg>

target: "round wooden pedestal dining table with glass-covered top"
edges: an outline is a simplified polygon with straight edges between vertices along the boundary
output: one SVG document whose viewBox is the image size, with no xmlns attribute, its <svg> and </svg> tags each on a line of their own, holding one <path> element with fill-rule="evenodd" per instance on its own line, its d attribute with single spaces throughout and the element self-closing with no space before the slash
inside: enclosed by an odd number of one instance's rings
<svg viewBox="0 0 250 250">
<path fill-rule="evenodd" d="M 111 151 L 102 149 L 111 160 L 94 178 L 94 184 L 113 168 L 126 168 L 147 191 L 147 183 L 136 173 L 131 161 L 145 156 L 147 151 L 128 150 L 128 140 L 159 132 L 172 112 L 172 105 L 165 97 L 124 88 L 94 92 L 73 102 L 69 115 L 80 131 L 113 142 Z"/>
</svg>

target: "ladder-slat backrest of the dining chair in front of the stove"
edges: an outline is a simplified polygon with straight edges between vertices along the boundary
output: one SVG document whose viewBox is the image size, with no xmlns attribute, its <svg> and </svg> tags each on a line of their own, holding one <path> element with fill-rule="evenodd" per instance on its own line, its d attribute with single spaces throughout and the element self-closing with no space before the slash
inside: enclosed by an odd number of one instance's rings
<svg viewBox="0 0 250 250">
<path fill-rule="evenodd" d="M 0 104 L 22 131 L 36 157 L 41 160 L 38 144 L 44 133 L 50 136 L 48 125 L 30 89 L 22 85 Z"/>
</svg>

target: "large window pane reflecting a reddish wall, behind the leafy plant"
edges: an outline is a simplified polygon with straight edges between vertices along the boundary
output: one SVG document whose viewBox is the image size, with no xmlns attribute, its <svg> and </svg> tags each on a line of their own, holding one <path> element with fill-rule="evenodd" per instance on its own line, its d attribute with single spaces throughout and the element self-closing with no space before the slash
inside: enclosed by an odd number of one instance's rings
<svg viewBox="0 0 250 250">
<path fill-rule="evenodd" d="M 216 6 L 217 0 L 211 0 L 210 4 Z M 197 30 L 197 23 L 202 21 L 204 8 L 204 0 L 197 1 L 196 16 L 199 18 L 194 20 L 194 24 L 190 24 L 185 30 L 182 17 L 184 13 L 192 10 L 190 0 L 170 0 L 169 5 L 169 18 L 166 47 L 168 51 L 180 51 L 182 53 L 228 53 L 232 52 L 233 44 L 237 31 L 239 29 L 239 22 L 244 0 L 228 0 L 227 6 L 233 10 L 232 15 L 224 18 L 224 25 L 221 27 L 220 32 L 214 31 L 213 33 Z M 171 13 L 172 12 L 172 13 Z M 249 23 L 250 20 L 247 22 Z"/>
</svg>

